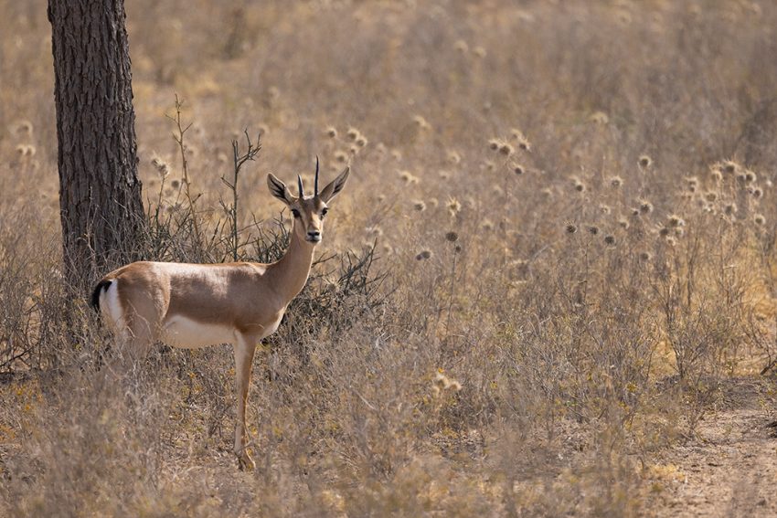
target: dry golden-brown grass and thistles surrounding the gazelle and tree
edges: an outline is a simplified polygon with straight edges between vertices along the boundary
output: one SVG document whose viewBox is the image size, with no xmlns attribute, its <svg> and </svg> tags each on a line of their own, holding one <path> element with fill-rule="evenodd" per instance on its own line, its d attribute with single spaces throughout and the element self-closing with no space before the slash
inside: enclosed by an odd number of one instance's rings
<svg viewBox="0 0 777 518">
<path fill-rule="evenodd" d="M 227 347 L 99 368 L 45 3 L 0 0 L 0 514 L 650 513 L 658 456 L 777 354 L 777 9 L 514 4 L 128 3 L 147 257 L 230 257 L 246 128 L 242 257 L 282 246 L 268 171 L 354 172 L 257 357 L 245 474 Z"/>
</svg>

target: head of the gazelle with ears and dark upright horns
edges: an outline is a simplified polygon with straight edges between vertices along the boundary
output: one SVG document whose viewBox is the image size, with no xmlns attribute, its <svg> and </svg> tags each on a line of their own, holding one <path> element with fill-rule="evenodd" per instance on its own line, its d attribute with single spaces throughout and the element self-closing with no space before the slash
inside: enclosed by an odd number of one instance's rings
<svg viewBox="0 0 777 518">
<path fill-rule="evenodd" d="M 299 196 L 293 196 L 289 188 L 274 174 L 267 175 L 267 185 L 270 193 L 291 209 L 294 217 L 293 232 L 300 238 L 314 245 L 321 241 L 324 235 L 324 217 L 328 210 L 327 204 L 343 190 L 348 179 L 350 168 L 339 174 L 329 185 L 318 190 L 318 157 L 315 157 L 315 182 L 313 196 L 305 196 L 303 179 L 297 175 Z"/>
</svg>

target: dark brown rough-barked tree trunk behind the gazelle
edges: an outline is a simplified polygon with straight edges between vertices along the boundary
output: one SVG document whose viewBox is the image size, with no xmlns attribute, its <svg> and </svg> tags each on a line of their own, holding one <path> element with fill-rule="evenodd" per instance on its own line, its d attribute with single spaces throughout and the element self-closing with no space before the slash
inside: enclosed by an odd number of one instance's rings
<svg viewBox="0 0 777 518">
<path fill-rule="evenodd" d="M 144 230 L 123 0 L 49 0 L 65 277 L 136 259 Z"/>
</svg>

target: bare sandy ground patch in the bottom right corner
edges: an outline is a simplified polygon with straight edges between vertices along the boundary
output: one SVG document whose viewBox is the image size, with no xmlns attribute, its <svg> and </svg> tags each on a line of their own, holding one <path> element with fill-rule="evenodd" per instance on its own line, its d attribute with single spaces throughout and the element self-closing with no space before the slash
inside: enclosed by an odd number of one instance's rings
<svg viewBox="0 0 777 518">
<path fill-rule="evenodd" d="M 774 383 L 738 378 L 697 436 L 666 450 L 648 516 L 777 516 Z"/>
</svg>

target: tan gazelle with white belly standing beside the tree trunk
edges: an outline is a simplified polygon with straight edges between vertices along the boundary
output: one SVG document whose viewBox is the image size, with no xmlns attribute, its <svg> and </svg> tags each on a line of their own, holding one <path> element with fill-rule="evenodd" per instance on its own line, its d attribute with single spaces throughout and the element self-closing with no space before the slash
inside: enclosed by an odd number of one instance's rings
<svg viewBox="0 0 777 518">
<path fill-rule="evenodd" d="M 133 262 L 103 277 L 92 293 L 91 305 L 105 317 L 130 358 L 144 357 L 157 340 L 184 348 L 234 346 L 234 451 L 240 469 L 254 468 L 246 449 L 246 401 L 256 346 L 275 332 L 289 302 L 307 282 L 327 204 L 346 185 L 348 172 L 346 167 L 319 191 L 316 158 L 313 196 L 304 195 L 299 175 L 299 196 L 292 196 L 273 174 L 267 175 L 272 196 L 294 217 L 289 248 L 276 262 Z"/>
</svg>

